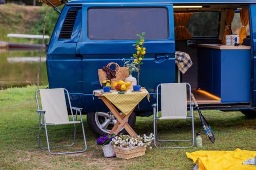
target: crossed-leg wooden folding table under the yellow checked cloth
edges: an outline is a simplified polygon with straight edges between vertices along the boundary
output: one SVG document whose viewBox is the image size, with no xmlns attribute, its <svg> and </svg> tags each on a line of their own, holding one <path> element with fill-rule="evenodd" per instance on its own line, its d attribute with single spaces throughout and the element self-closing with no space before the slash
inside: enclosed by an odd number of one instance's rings
<svg viewBox="0 0 256 170">
<path fill-rule="evenodd" d="M 144 92 L 146 92 L 145 95 L 148 95 L 147 90 L 143 89 Z M 115 91 L 114 91 L 115 92 Z M 131 91 L 128 91 L 131 93 Z M 117 92 L 116 92 L 117 93 Z M 124 94 L 116 94 L 116 95 L 124 95 Z M 135 93 L 133 95 L 136 95 Z M 115 126 L 112 128 L 111 132 L 109 134 L 115 134 L 118 135 L 118 133 L 121 131 L 122 128 L 124 128 L 126 130 L 127 133 L 129 133 L 132 137 L 137 137 L 136 132 L 133 130 L 133 128 L 127 123 L 127 120 L 129 119 L 130 115 L 133 113 L 136 105 L 134 106 L 134 108 L 127 114 L 120 114 L 119 111 L 116 109 L 116 107 L 114 106 L 113 103 L 111 103 L 111 101 L 109 99 L 107 99 L 103 93 L 101 93 L 100 91 L 95 91 L 95 96 L 98 96 L 98 98 L 100 100 L 102 100 L 104 102 L 104 104 L 106 105 L 106 107 L 108 107 L 110 109 L 110 111 L 112 112 L 112 114 L 115 115 L 115 117 L 117 118 L 117 123 L 115 124 Z M 144 97 L 143 97 L 144 98 Z M 143 99 L 142 98 L 142 99 Z M 142 100 L 141 99 L 141 100 Z M 149 95 L 148 95 L 148 99 L 149 99 Z M 138 102 L 139 104 L 139 102 Z M 120 111 L 122 111 L 120 109 Z"/>
</svg>

